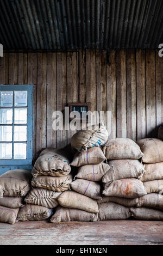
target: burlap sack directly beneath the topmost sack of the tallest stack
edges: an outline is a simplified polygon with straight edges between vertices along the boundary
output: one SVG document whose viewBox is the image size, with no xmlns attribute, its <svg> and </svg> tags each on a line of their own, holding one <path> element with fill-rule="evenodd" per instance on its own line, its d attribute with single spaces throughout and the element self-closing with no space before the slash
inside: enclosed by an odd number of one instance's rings
<svg viewBox="0 0 163 256">
<path fill-rule="evenodd" d="M 76 153 L 71 162 L 71 166 L 85 166 L 86 164 L 98 164 L 105 161 L 106 157 L 100 147 L 90 148 L 83 153 Z"/>
</svg>

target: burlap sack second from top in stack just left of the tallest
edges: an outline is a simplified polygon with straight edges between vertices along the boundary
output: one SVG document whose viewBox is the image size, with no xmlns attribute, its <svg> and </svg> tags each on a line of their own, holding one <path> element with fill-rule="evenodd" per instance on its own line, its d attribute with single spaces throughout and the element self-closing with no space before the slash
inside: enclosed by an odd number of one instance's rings
<svg viewBox="0 0 163 256">
<path fill-rule="evenodd" d="M 31 184 L 33 187 L 47 188 L 47 190 L 63 192 L 70 188 L 72 175 L 68 174 L 62 177 L 37 176 L 33 177 Z"/>
</svg>

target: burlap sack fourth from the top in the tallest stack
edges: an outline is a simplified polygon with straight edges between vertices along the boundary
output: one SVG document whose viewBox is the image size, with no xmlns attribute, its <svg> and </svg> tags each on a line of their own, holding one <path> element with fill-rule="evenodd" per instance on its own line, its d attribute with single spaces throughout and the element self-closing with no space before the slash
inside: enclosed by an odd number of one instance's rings
<svg viewBox="0 0 163 256">
<path fill-rule="evenodd" d="M 72 189 L 93 199 L 101 199 L 101 186 L 95 181 L 77 179 L 71 182 Z"/>
</svg>

